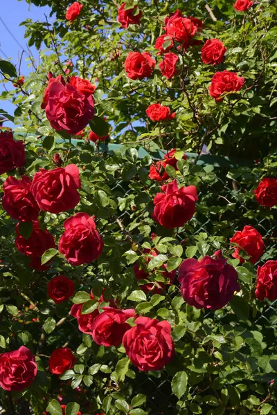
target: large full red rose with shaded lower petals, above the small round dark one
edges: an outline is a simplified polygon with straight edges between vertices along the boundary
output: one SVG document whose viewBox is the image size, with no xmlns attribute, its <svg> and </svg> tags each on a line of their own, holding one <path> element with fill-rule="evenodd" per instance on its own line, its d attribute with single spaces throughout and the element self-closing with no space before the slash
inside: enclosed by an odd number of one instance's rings
<svg viewBox="0 0 277 415">
<path fill-rule="evenodd" d="M 93 217 L 89 214 L 78 212 L 66 219 L 64 228 L 59 250 L 69 264 L 89 264 L 101 255 L 104 243 L 96 230 Z"/>
</svg>

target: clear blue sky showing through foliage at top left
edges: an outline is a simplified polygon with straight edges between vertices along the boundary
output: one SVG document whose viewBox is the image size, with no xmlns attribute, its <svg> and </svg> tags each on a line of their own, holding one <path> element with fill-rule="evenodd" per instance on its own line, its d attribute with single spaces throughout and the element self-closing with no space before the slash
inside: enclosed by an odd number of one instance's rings
<svg viewBox="0 0 277 415">
<path fill-rule="evenodd" d="M 6 57 L 9 57 L 11 62 L 17 66 L 21 56 L 21 47 L 27 50 L 26 42 L 28 41 L 28 39 L 24 39 L 25 27 L 19 26 L 19 24 L 21 21 L 24 21 L 27 18 L 33 20 L 44 20 L 44 13 L 48 15 L 49 11 L 50 9 L 47 7 L 38 8 L 33 4 L 29 5 L 25 0 L 1 1 L 0 17 L 6 26 L 8 26 L 8 29 L 15 37 L 15 39 L 17 39 L 17 41 L 12 37 L 12 35 L 10 35 L 0 19 L 0 58 L 7 59 Z M 21 46 L 19 46 L 19 44 Z M 33 46 L 30 49 L 32 50 L 35 59 L 37 59 L 38 53 L 36 48 Z M 25 60 L 26 57 L 27 55 L 24 53 L 23 59 L 21 61 L 21 75 L 28 75 L 30 72 L 30 68 L 28 68 L 28 62 Z M 6 84 L 6 88 L 10 90 L 13 88 L 13 86 L 11 84 Z M 0 92 L 1 91 L 3 91 L 2 84 L 0 84 Z M 15 109 L 15 107 L 8 101 L 1 101 L 0 108 L 6 110 L 11 115 Z M 12 127 L 12 123 L 6 122 L 5 126 Z"/>
</svg>

